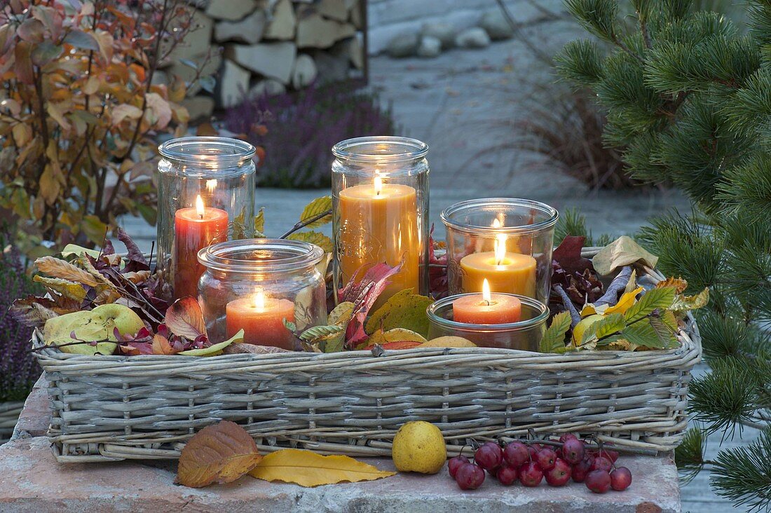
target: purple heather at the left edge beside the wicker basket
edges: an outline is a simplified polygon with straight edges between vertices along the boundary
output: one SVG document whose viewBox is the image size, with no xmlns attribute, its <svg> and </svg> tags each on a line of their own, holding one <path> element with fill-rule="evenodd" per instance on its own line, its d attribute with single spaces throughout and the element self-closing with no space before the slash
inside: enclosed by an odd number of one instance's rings
<svg viewBox="0 0 771 513">
<path fill-rule="evenodd" d="M 8 312 L 14 299 L 34 290 L 19 251 L 8 246 L 0 255 L 0 403 L 24 400 L 41 373 L 29 353 L 32 329 Z"/>
</svg>

